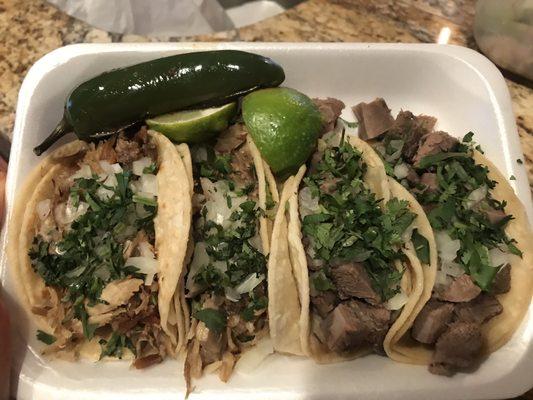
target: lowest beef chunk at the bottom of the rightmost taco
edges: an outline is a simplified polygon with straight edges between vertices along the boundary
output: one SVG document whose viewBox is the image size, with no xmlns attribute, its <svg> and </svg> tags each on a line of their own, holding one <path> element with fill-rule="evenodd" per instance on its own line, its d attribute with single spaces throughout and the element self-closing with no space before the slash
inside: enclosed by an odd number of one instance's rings
<svg viewBox="0 0 533 400">
<path fill-rule="evenodd" d="M 454 322 L 437 340 L 429 371 L 450 376 L 458 369 L 472 367 L 480 356 L 482 345 L 478 324 Z"/>
</svg>

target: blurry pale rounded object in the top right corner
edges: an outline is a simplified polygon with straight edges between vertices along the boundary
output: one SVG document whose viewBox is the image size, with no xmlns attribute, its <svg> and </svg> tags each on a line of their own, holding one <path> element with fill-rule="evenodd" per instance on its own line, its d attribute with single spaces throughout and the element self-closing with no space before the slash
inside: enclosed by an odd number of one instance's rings
<svg viewBox="0 0 533 400">
<path fill-rule="evenodd" d="M 478 0 L 474 36 L 494 63 L 533 80 L 533 0 Z"/>
</svg>

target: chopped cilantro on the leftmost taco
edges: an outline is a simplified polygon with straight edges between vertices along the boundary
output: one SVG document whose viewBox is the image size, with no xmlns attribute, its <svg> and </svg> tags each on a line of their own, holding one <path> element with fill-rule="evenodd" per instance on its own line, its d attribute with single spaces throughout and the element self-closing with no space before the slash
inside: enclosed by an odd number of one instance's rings
<svg viewBox="0 0 533 400">
<path fill-rule="evenodd" d="M 127 267 L 123 257 L 124 242 L 128 239 L 124 236 L 126 227 L 133 226 L 135 233 L 144 229 L 153 236 L 156 204 L 141 203 L 145 204 L 142 207 L 146 215 L 137 217 L 135 196 L 129 187 L 131 172 L 115 177 L 117 186 L 107 188 L 113 190 L 107 199 L 97 195 L 102 184 L 96 176 L 77 179 L 70 188 L 71 201 L 74 204 L 84 201 L 89 210 L 72 222 L 60 241 L 47 241 L 38 235 L 29 251 L 32 267 L 45 283 L 66 289 L 63 301 L 72 304 L 74 317 L 82 322 L 83 334 L 88 339 L 94 336 L 97 325 L 88 322 L 86 301 L 89 306 L 96 304 L 107 283 L 136 275 L 136 269 Z"/>
</svg>

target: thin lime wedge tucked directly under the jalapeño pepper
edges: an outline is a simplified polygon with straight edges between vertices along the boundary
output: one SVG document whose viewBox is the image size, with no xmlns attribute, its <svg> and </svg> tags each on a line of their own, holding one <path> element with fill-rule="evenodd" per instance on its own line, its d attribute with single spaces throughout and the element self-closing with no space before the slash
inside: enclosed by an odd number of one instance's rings
<svg viewBox="0 0 533 400">
<path fill-rule="evenodd" d="M 178 143 L 199 143 L 215 136 L 229 125 L 237 113 L 237 103 L 203 110 L 185 110 L 146 120 L 150 129 Z"/>
</svg>

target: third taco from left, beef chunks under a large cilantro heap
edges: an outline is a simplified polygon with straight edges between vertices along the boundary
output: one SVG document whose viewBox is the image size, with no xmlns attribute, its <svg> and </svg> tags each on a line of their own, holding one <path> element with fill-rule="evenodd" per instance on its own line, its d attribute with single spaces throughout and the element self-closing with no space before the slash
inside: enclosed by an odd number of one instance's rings
<svg viewBox="0 0 533 400">
<path fill-rule="evenodd" d="M 387 351 L 436 267 L 419 205 L 343 127 L 286 181 L 269 262 L 269 274 L 292 275 L 296 286 L 270 294 L 286 304 L 270 317 L 271 330 L 286 332 L 274 348 L 320 363 Z"/>
</svg>

